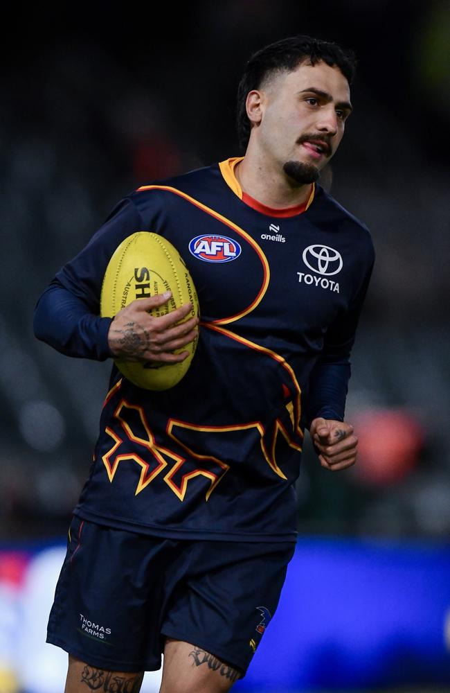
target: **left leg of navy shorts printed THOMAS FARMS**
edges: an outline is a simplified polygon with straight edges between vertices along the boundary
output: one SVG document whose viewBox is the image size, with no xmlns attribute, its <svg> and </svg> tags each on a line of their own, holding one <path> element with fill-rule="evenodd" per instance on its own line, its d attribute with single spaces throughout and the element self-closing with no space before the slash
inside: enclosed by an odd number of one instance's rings
<svg viewBox="0 0 450 693">
<path fill-rule="evenodd" d="M 47 642 L 99 670 L 159 669 L 173 555 L 170 541 L 74 518 Z"/>
</svg>

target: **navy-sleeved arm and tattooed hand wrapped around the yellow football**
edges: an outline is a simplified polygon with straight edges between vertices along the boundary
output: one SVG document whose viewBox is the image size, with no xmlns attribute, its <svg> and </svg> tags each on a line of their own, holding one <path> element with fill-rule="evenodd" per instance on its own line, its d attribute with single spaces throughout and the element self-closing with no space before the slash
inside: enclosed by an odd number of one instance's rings
<svg viewBox="0 0 450 693">
<path fill-rule="evenodd" d="M 113 318 L 100 317 L 100 292 L 109 260 L 120 243 L 143 230 L 130 200 L 123 200 L 89 244 L 64 265 L 35 308 L 37 339 L 66 356 L 105 360 L 110 356 L 147 362 L 182 361 L 188 352 L 174 354 L 197 335 L 197 318 L 177 324 L 190 313 L 181 306 L 168 315 L 147 312 L 170 296 L 132 301 Z"/>
</svg>

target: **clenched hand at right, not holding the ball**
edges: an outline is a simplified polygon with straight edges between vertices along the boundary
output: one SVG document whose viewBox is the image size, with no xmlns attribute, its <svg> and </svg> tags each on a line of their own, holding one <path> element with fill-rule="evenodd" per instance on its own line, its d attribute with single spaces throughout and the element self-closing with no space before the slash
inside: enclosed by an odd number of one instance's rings
<svg viewBox="0 0 450 693">
<path fill-rule="evenodd" d="M 339 471 L 357 461 L 358 439 L 353 426 L 345 421 L 314 419 L 309 428 L 311 439 L 319 451 L 318 459 L 325 469 Z"/>
</svg>

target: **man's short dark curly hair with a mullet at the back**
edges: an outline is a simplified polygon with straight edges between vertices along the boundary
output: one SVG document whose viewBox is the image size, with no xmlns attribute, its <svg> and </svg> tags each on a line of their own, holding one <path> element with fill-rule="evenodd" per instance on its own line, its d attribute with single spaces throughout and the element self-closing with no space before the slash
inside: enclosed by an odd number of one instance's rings
<svg viewBox="0 0 450 693">
<path fill-rule="evenodd" d="M 348 83 L 352 83 L 357 64 L 353 51 L 310 36 L 291 36 L 269 44 L 251 55 L 237 87 L 237 137 L 242 151 L 246 149 L 249 142 L 251 129 L 245 107 L 249 91 L 260 89 L 271 73 L 291 72 L 302 62 L 315 65 L 321 61 L 326 62 L 330 67 L 338 67 Z"/>
</svg>

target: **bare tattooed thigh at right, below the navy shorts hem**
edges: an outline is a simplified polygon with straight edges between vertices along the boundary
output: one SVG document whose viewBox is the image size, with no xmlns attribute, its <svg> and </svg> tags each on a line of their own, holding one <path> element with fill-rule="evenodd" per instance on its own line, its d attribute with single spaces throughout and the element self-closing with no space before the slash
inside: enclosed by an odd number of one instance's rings
<svg viewBox="0 0 450 693">
<path fill-rule="evenodd" d="M 183 640 L 166 639 L 159 693 L 226 693 L 238 678 L 237 669 L 210 652 Z"/>
</svg>

